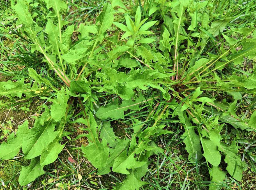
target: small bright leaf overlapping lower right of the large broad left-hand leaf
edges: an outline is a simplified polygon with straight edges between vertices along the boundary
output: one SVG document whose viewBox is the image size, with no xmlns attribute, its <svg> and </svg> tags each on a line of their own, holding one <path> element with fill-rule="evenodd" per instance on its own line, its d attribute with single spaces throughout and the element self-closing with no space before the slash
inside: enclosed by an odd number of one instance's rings
<svg viewBox="0 0 256 190">
<path fill-rule="evenodd" d="M 58 158 L 58 154 L 62 151 L 64 145 L 60 145 L 58 138 L 54 139 L 47 148 L 44 148 L 40 156 L 40 165 L 45 166 L 54 162 Z"/>
</svg>

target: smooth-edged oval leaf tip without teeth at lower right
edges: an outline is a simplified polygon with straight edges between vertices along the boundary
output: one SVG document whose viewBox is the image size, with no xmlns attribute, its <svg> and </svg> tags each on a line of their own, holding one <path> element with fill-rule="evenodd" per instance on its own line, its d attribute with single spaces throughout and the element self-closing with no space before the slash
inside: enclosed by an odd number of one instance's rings
<svg viewBox="0 0 256 190">
<path fill-rule="evenodd" d="M 207 138 L 201 138 L 201 143 L 203 147 L 203 156 L 210 162 L 213 166 L 219 166 L 221 163 L 221 154 L 217 149 L 217 146 Z"/>
</svg>

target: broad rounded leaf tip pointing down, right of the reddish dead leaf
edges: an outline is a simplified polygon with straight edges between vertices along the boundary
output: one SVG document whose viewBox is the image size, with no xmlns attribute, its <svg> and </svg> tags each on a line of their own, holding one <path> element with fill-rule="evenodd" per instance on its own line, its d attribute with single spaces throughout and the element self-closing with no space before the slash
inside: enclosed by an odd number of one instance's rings
<svg viewBox="0 0 256 190">
<path fill-rule="evenodd" d="M 101 142 L 96 140 L 87 146 L 82 145 L 82 151 L 95 168 L 104 167 L 109 158 L 109 147 L 105 138 Z"/>
</svg>

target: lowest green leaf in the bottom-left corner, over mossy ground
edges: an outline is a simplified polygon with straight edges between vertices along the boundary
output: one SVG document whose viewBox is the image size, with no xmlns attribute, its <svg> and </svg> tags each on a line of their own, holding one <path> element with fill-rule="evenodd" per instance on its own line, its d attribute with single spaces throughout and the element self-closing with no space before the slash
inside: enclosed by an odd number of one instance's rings
<svg viewBox="0 0 256 190">
<path fill-rule="evenodd" d="M 29 166 L 22 166 L 19 176 L 19 184 L 24 186 L 34 181 L 37 177 L 45 173 L 43 168 L 44 166 L 40 165 L 40 158 L 33 158 Z"/>
</svg>

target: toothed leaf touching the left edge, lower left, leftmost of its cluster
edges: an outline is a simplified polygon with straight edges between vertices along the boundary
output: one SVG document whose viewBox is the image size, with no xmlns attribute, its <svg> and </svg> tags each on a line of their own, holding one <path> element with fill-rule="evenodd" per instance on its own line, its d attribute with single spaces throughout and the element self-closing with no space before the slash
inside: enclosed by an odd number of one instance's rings
<svg viewBox="0 0 256 190">
<path fill-rule="evenodd" d="M 8 160 L 15 157 L 19 153 L 28 131 L 28 120 L 26 120 L 22 125 L 19 125 L 16 137 L 14 132 L 12 132 L 7 142 L 2 142 L 0 146 L 0 158 Z"/>
</svg>

